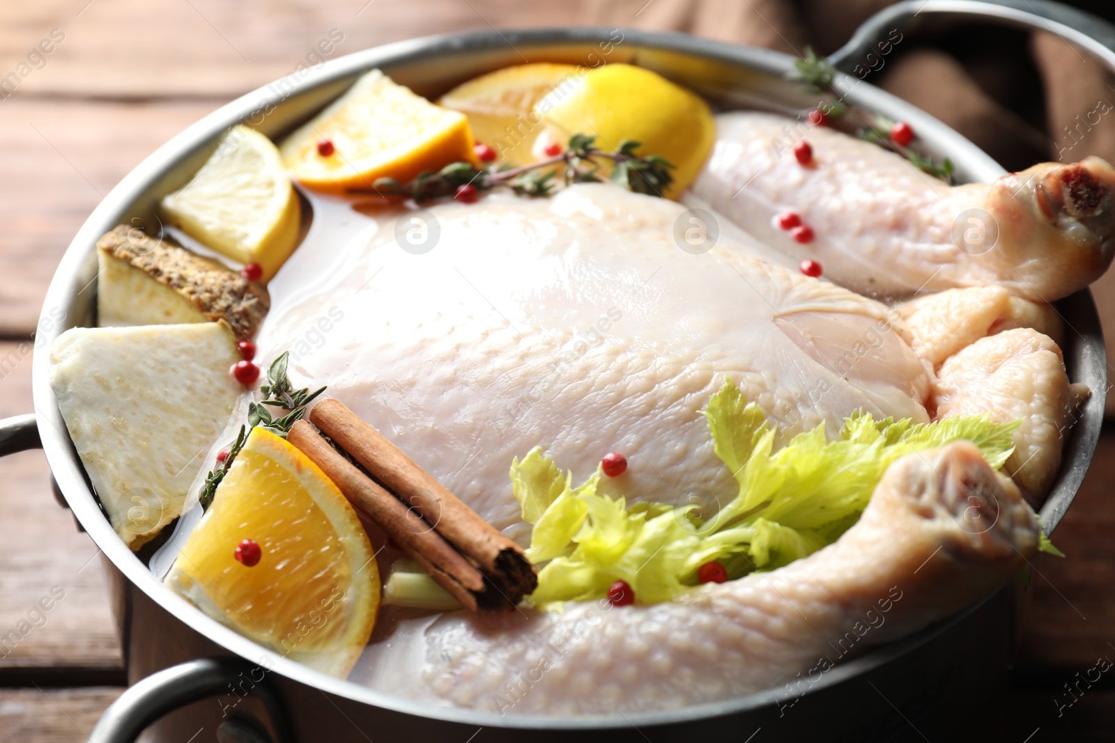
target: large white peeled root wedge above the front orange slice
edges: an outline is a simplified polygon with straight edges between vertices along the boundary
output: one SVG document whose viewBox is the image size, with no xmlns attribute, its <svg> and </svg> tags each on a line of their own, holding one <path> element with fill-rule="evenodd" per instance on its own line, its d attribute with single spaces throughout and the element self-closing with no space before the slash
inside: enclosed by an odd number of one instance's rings
<svg viewBox="0 0 1115 743">
<path fill-rule="evenodd" d="M 177 518 L 242 388 L 217 323 L 74 327 L 50 349 L 50 384 L 94 490 L 132 549 Z"/>
</svg>

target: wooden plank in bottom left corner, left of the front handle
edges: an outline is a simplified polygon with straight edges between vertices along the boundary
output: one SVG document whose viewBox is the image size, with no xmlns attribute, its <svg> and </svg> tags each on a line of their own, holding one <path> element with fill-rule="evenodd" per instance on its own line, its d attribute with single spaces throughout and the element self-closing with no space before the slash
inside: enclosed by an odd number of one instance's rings
<svg viewBox="0 0 1115 743">
<path fill-rule="evenodd" d="M 0 740 L 84 742 L 105 707 L 123 691 L 112 687 L 0 690 Z"/>
</svg>

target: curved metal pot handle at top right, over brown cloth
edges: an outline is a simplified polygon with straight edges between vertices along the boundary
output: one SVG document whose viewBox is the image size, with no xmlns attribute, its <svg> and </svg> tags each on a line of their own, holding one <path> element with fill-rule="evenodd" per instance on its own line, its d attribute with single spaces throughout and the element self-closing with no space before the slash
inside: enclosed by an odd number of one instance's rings
<svg viewBox="0 0 1115 743">
<path fill-rule="evenodd" d="M 879 56 L 875 45 L 888 35 L 894 30 L 914 31 L 922 23 L 941 18 L 1048 31 L 1084 49 L 1115 71 L 1115 26 L 1092 13 L 1048 0 L 905 0 L 865 20 L 847 43 L 830 55 L 828 61 L 842 72 L 862 78 L 871 67 L 869 55 Z"/>
</svg>

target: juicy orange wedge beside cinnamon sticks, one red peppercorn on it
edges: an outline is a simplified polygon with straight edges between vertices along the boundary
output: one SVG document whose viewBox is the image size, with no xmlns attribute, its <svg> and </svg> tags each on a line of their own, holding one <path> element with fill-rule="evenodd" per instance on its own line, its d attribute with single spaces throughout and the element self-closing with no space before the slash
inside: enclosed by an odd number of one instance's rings
<svg viewBox="0 0 1115 743">
<path fill-rule="evenodd" d="M 244 539 L 259 545 L 251 567 L 235 556 Z M 356 511 L 306 454 L 260 428 L 166 581 L 261 645 L 341 678 L 379 608 L 379 570 Z"/>
</svg>

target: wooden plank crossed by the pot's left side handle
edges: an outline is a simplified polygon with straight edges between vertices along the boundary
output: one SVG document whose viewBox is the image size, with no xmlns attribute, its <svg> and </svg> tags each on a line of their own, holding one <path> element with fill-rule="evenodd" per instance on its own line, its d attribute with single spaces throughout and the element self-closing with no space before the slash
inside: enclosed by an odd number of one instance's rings
<svg viewBox="0 0 1115 743">
<path fill-rule="evenodd" d="M 21 355 L 0 343 L 0 359 Z M 3 368 L 0 417 L 30 412 L 30 355 Z M 50 668 L 120 668 L 99 550 L 55 500 L 42 452 L 0 460 L 0 685 L 57 683 Z"/>
</svg>

